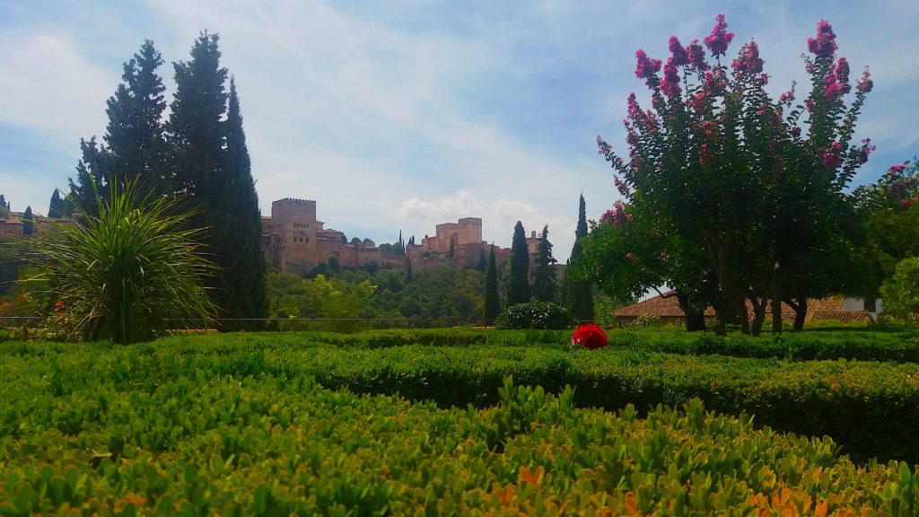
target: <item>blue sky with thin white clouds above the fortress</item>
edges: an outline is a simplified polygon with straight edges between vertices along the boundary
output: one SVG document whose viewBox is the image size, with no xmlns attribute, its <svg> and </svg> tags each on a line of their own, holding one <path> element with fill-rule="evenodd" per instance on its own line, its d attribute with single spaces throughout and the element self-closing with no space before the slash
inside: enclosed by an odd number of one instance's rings
<svg viewBox="0 0 919 517">
<path fill-rule="evenodd" d="M 481 217 L 484 240 L 510 247 L 516 221 L 548 224 L 563 262 L 578 196 L 592 219 L 618 201 L 596 136 L 626 154 L 626 98 L 646 98 L 635 52 L 665 61 L 670 36 L 701 40 L 719 14 L 729 57 L 759 44 L 774 97 L 806 83 L 822 18 L 853 78 L 870 67 L 857 138 L 878 150 L 856 184 L 919 154 L 915 0 L 0 0 L 0 194 L 47 213 L 80 138 L 105 132 L 122 64 L 153 40 L 171 101 L 172 63 L 207 30 L 235 77 L 263 214 L 315 200 L 326 228 L 378 244 Z"/>
</svg>

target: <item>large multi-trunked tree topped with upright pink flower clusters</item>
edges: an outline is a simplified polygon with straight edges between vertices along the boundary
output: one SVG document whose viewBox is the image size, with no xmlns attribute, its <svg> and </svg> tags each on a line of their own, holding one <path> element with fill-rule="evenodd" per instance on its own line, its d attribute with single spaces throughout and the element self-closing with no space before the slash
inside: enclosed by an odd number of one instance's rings
<svg viewBox="0 0 919 517">
<path fill-rule="evenodd" d="M 618 224 L 647 221 L 656 242 L 678 238 L 690 255 L 703 255 L 689 274 L 717 279 L 709 302 L 722 321 L 758 334 L 772 301 L 773 329 L 781 331 L 780 302 L 803 314 L 808 296 L 845 289 L 828 271 L 858 247 L 846 187 L 874 149 L 853 141 L 872 82 L 866 69 L 852 84 L 822 20 L 804 58 L 810 93 L 797 102 L 792 84 L 771 97 L 755 41 L 728 63 L 727 27 L 722 15 L 701 43 L 671 37 L 666 63 L 636 52 L 651 109 L 630 95 L 627 156 L 597 143 L 632 216 Z"/>
</svg>

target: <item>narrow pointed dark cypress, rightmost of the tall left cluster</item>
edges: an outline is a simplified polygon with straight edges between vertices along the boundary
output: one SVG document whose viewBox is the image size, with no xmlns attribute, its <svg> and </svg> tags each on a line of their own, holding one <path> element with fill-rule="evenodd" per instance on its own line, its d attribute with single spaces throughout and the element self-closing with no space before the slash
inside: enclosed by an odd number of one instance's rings
<svg viewBox="0 0 919 517">
<path fill-rule="evenodd" d="M 221 202 L 221 235 L 218 245 L 222 265 L 223 288 L 229 317 L 263 317 L 267 315 L 265 256 L 262 253 L 262 213 L 252 178 L 252 160 L 245 144 L 243 114 L 236 94 L 236 83 L 230 79 L 229 109 L 224 123 L 226 151 L 222 173 L 225 192 Z"/>
</svg>

